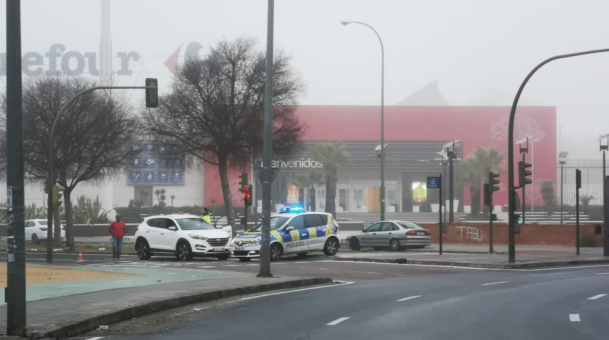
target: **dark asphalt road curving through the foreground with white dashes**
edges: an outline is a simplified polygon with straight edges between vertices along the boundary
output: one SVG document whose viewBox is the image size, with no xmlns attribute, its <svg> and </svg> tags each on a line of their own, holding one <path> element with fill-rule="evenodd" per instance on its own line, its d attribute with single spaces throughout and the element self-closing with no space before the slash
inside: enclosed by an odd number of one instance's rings
<svg viewBox="0 0 609 340">
<path fill-rule="evenodd" d="M 469 270 L 228 300 L 80 339 L 607 339 L 604 294 L 607 265 Z"/>
</svg>

